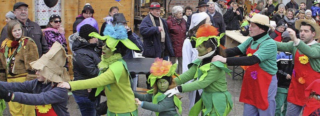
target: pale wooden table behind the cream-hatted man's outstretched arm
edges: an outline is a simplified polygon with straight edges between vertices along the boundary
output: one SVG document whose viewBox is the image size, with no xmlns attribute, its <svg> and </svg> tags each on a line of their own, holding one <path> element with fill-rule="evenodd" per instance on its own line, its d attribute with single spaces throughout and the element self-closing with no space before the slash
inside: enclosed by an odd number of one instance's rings
<svg viewBox="0 0 320 116">
<path fill-rule="evenodd" d="M 243 36 L 240 32 L 234 30 L 226 30 L 225 31 L 225 47 L 233 48 L 243 43 L 249 36 Z M 240 76 L 243 78 L 244 69 L 241 66 L 233 66 L 232 68 L 232 79 L 234 77 Z M 236 69 L 241 69 L 241 72 L 235 72 Z"/>
</svg>

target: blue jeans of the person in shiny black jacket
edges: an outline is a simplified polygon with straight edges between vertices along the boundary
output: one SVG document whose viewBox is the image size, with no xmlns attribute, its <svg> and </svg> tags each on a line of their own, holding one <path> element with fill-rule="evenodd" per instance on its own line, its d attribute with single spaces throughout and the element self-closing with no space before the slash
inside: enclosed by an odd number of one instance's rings
<svg viewBox="0 0 320 116">
<path fill-rule="evenodd" d="M 72 95 L 78 104 L 82 116 L 95 116 L 96 100 L 91 102 L 87 97 Z"/>
</svg>

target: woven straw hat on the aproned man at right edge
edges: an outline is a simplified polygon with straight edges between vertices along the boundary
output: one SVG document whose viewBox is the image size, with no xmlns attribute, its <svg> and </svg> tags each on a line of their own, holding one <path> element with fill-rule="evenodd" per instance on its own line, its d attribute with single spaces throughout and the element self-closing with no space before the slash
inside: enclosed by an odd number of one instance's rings
<svg viewBox="0 0 320 116">
<path fill-rule="evenodd" d="M 313 38 L 320 38 L 320 26 L 317 23 L 315 23 L 309 19 L 298 19 L 297 21 L 295 21 L 295 28 L 296 29 L 298 29 L 298 30 L 300 29 L 301 22 L 305 22 L 314 28 L 315 36 Z"/>
</svg>

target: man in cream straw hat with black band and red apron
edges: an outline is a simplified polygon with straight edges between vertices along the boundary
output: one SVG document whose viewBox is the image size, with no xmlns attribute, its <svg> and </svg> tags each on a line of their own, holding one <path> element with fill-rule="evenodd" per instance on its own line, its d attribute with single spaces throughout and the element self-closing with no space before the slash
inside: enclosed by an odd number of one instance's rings
<svg viewBox="0 0 320 116">
<path fill-rule="evenodd" d="M 239 99 L 244 103 L 243 116 L 274 116 L 276 45 L 267 33 L 269 18 L 254 14 L 249 22 L 251 37 L 237 47 L 225 49 L 227 58 L 217 55 L 212 61 L 227 63 L 229 66 L 247 66 Z M 233 57 L 243 54 L 242 57 Z"/>
</svg>

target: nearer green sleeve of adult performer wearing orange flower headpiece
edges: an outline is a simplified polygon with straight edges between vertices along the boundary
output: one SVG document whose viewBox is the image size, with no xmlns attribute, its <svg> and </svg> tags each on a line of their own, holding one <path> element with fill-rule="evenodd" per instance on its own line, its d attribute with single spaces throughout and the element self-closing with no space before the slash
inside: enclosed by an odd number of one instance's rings
<svg viewBox="0 0 320 116">
<path fill-rule="evenodd" d="M 216 77 L 216 75 L 218 75 L 221 71 L 222 70 L 217 68 L 215 65 L 210 64 L 210 69 L 207 71 L 207 76 L 202 81 L 196 80 L 191 83 L 182 84 L 182 92 L 190 92 L 207 87 L 212 82 L 219 79 L 218 77 Z"/>
</svg>

